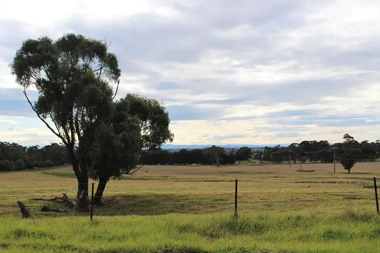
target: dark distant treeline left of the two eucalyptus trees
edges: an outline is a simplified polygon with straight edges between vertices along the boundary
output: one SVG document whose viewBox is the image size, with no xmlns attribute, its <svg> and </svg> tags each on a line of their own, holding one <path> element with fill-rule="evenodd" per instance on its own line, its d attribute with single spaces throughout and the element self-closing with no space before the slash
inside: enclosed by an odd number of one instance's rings
<svg viewBox="0 0 380 253">
<path fill-rule="evenodd" d="M 0 142 L 0 172 L 22 171 L 34 167 L 52 167 L 70 163 L 63 145 L 24 147 L 17 143 Z"/>
</svg>

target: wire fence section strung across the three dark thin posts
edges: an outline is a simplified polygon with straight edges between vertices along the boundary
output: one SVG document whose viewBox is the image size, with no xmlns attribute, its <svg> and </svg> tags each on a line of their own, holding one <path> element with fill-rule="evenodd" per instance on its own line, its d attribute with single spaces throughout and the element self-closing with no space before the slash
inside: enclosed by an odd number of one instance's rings
<svg viewBox="0 0 380 253">
<path fill-rule="evenodd" d="M 169 207 L 175 207 L 175 208 L 181 208 L 186 206 L 197 206 L 203 209 L 223 209 L 223 208 L 214 208 L 215 206 L 224 206 L 227 207 L 226 209 L 229 209 L 228 207 L 231 207 L 234 205 L 234 215 L 238 215 L 238 204 L 247 205 L 250 206 L 252 204 L 264 204 L 269 205 L 269 207 L 276 207 L 274 205 L 281 203 L 281 206 L 284 207 L 284 204 L 290 204 L 294 205 L 296 203 L 297 205 L 305 206 L 307 203 L 313 203 L 313 205 L 326 203 L 326 202 L 338 202 L 338 201 L 346 201 L 348 205 L 350 205 L 353 201 L 366 201 L 368 205 L 375 204 L 377 214 L 379 213 L 379 206 L 378 206 L 378 196 L 377 196 L 377 185 L 376 185 L 376 178 L 373 178 L 373 185 L 374 185 L 374 196 L 373 196 L 373 190 L 359 190 L 359 191 L 321 191 L 321 192 L 239 192 L 238 188 L 238 179 L 235 180 L 235 191 L 231 193 L 216 193 L 216 194 L 186 194 L 186 195 L 180 195 L 180 194 L 173 194 L 173 195 L 147 195 L 145 198 L 145 202 L 141 201 L 143 198 L 139 199 L 136 198 L 138 201 L 129 201 L 128 206 L 132 208 L 139 208 L 139 214 L 144 214 L 143 207 L 156 207 L 161 208 L 160 210 L 163 210 L 164 206 Z M 297 195 L 301 195 L 302 198 L 297 197 Z M 371 197 L 372 195 L 372 197 Z M 220 198 L 220 196 L 224 196 L 226 198 Z M 233 201 L 231 201 L 231 197 L 234 197 Z M 277 198 L 275 197 L 277 196 Z M 294 197 L 295 196 L 295 197 Z M 306 197 L 308 196 L 308 197 Z M 92 220 L 94 217 L 94 210 L 100 211 L 99 215 L 104 215 L 104 209 L 107 210 L 107 207 L 98 207 L 93 205 L 94 197 L 94 183 L 92 184 L 92 192 L 91 192 L 91 211 L 90 211 L 90 219 Z M 125 196 L 124 196 L 125 197 Z M 133 198 L 131 195 L 130 197 Z M 160 198 L 169 198 L 175 201 L 163 201 Z M 184 197 L 181 201 L 181 197 Z M 190 197 L 195 197 L 195 199 L 191 199 L 189 201 Z M 208 200 L 217 200 L 217 201 L 204 201 L 206 199 Z M 211 198 L 210 198 L 211 197 Z M 213 197 L 213 198 L 212 198 Z M 196 201 L 198 198 L 198 201 Z M 281 200 L 279 200 L 281 199 Z M 131 200 L 128 199 L 128 200 Z M 154 201 L 155 200 L 155 201 Z M 183 202 L 185 201 L 185 202 Z M 350 203 L 351 201 L 351 203 Z M 362 203 L 361 203 L 362 205 Z M 120 208 L 123 208 L 125 206 L 121 205 Z M 210 208 L 211 207 L 211 208 Z M 103 209 L 103 210 L 101 210 Z M 147 208 L 147 211 L 152 211 L 150 208 Z M 112 212 L 108 209 L 108 215 L 118 215 L 119 212 Z M 115 211 L 115 210 L 114 210 Z M 128 211 L 125 212 L 128 214 Z M 157 212 L 153 212 L 157 213 Z M 164 212 L 165 213 L 165 212 Z M 170 212 L 169 212 L 170 213 Z M 185 213 L 185 212 L 179 212 L 179 213 Z M 203 212 L 204 213 L 204 212 Z M 207 213 L 207 212 L 206 212 Z M 149 212 L 146 213 L 147 215 Z"/>
</svg>

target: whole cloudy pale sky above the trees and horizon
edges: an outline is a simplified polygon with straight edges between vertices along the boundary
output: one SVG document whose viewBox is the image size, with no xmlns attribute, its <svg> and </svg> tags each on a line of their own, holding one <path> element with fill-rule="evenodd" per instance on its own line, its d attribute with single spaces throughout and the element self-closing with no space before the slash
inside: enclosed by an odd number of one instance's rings
<svg viewBox="0 0 380 253">
<path fill-rule="evenodd" d="M 9 64 L 23 40 L 69 32 L 111 43 L 119 96 L 163 101 L 172 144 L 380 139 L 380 0 L 6 1 L 0 141 L 59 142 Z"/>
</svg>

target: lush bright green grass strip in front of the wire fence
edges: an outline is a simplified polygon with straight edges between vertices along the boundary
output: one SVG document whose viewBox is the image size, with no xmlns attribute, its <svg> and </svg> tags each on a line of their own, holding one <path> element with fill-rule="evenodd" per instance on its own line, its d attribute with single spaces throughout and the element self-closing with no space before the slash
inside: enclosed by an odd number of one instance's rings
<svg viewBox="0 0 380 253">
<path fill-rule="evenodd" d="M 341 212 L 0 218 L 0 252 L 378 252 L 380 216 Z"/>
</svg>

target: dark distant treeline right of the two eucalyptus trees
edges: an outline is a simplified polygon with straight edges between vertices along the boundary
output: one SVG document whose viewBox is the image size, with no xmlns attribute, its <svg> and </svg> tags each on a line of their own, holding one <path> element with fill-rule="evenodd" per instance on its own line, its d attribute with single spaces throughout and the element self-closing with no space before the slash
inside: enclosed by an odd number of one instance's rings
<svg viewBox="0 0 380 253">
<path fill-rule="evenodd" d="M 142 157 L 144 164 L 234 164 L 235 161 L 253 157 L 260 162 L 333 162 L 340 159 L 360 161 L 375 161 L 379 158 L 380 141 L 357 142 L 352 136 L 345 135 L 344 142 L 330 144 L 328 141 L 302 141 L 292 143 L 288 147 L 264 147 L 262 150 L 251 150 L 248 147 L 225 150 L 222 147 L 212 146 L 203 149 L 181 149 L 168 151 L 159 149 L 149 152 Z M 346 158 L 343 158 L 346 157 Z"/>
</svg>

